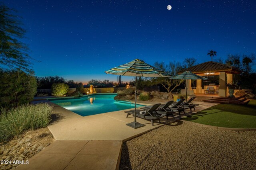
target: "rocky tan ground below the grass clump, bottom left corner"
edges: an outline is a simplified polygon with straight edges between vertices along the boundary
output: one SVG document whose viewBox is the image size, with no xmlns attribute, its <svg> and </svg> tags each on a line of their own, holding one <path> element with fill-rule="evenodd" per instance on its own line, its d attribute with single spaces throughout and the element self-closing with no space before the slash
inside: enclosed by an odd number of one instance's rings
<svg viewBox="0 0 256 170">
<path fill-rule="evenodd" d="M 45 149 L 54 141 L 47 128 L 26 131 L 7 143 L 0 143 L 0 170 L 15 169 L 20 163 L 27 164 L 28 159 Z M 26 162 L 27 161 L 27 162 Z M 8 162 L 8 163 L 7 163 Z M 15 164 L 14 162 L 19 162 Z"/>
</svg>

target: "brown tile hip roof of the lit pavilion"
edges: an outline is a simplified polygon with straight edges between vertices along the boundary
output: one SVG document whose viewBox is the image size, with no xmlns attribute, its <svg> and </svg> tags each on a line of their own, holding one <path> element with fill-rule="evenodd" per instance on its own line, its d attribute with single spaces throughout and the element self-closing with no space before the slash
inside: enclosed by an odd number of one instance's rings
<svg viewBox="0 0 256 170">
<path fill-rule="evenodd" d="M 221 72 L 225 71 L 232 74 L 240 74 L 242 71 L 235 69 L 232 66 L 229 66 L 227 64 L 217 63 L 213 61 L 208 61 L 205 63 L 201 63 L 195 66 L 192 66 L 190 68 L 186 68 L 184 70 L 181 70 L 179 73 L 184 71 L 191 71 L 192 73 L 204 73 L 206 71 L 214 71 L 214 72 Z"/>
</svg>

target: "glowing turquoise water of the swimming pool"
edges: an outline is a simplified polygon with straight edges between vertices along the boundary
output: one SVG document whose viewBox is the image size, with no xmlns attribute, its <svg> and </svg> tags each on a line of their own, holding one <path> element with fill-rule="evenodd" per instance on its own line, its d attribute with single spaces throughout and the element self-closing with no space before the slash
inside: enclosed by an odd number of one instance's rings
<svg viewBox="0 0 256 170">
<path fill-rule="evenodd" d="M 135 107 L 134 104 L 130 102 L 116 102 L 114 96 L 116 96 L 116 94 L 94 94 L 79 99 L 72 98 L 50 101 L 81 116 L 96 115 Z M 142 105 L 137 104 L 136 107 L 142 107 Z"/>
</svg>

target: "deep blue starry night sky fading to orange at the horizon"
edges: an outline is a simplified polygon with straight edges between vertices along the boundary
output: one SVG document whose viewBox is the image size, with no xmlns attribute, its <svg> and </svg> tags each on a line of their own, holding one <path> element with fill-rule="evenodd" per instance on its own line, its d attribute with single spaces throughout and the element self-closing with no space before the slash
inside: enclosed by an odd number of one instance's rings
<svg viewBox="0 0 256 170">
<path fill-rule="evenodd" d="M 208 50 L 217 51 L 214 60 L 256 53 L 255 0 L 2 2 L 22 16 L 22 41 L 41 61 L 32 61 L 36 76 L 117 81 L 104 71 L 137 58 L 153 65 L 194 57 L 199 64 L 211 61 Z"/>
</svg>

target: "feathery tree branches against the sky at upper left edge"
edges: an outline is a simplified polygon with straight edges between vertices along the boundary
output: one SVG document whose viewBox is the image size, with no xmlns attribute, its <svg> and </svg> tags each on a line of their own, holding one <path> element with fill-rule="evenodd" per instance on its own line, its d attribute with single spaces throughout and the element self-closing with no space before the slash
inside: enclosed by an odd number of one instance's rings
<svg viewBox="0 0 256 170">
<path fill-rule="evenodd" d="M 0 64 L 30 71 L 28 46 L 19 41 L 24 38 L 26 30 L 14 12 L 0 4 Z"/>
</svg>

